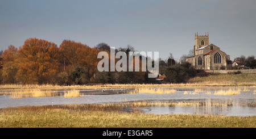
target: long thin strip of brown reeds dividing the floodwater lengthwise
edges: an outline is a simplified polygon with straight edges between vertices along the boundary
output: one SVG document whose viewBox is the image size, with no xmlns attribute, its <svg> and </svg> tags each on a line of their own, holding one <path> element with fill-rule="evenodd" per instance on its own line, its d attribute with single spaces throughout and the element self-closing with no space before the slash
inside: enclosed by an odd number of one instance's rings
<svg viewBox="0 0 256 139">
<path fill-rule="evenodd" d="M 124 103 L 105 103 L 105 104 L 64 104 L 64 105 L 49 105 L 49 106 L 27 106 L 27 107 L 14 107 L 14 108 L 1 108 L 0 112 L 8 111 L 46 111 L 48 109 L 68 109 L 69 111 L 121 111 L 125 108 L 136 108 L 136 107 L 208 107 L 208 106 L 249 106 L 256 107 L 256 103 L 216 103 L 216 102 L 147 102 L 147 101 L 137 101 L 137 102 L 124 102 Z M 133 109 L 137 112 L 138 109 Z"/>
</svg>

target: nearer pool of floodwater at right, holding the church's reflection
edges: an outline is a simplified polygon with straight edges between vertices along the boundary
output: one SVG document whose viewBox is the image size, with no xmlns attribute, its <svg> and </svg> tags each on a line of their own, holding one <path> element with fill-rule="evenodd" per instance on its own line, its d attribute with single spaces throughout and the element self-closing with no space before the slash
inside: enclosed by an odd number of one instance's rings
<svg viewBox="0 0 256 139">
<path fill-rule="evenodd" d="M 204 99 L 197 100 L 191 106 L 154 106 L 137 107 L 143 113 L 158 114 L 196 114 L 196 115 L 225 115 L 225 116 L 256 116 L 256 103 L 237 103 L 233 99 Z M 243 102 L 242 100 L 241 102 Z"/>
</svg>

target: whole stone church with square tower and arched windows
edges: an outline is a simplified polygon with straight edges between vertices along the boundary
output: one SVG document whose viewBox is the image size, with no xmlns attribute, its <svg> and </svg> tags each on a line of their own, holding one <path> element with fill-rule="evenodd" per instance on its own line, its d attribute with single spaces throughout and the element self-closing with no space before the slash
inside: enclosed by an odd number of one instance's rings
<svg viewBox="0 0 256 139">
<path fill-rule="evenodd" d="M 187 57 L 186 62 L 189 62 L 195 69 L 218 70 L 232 69 L 232 61 L 229 55 L 220 50 L 214 44 L 209 44 L 209 33 L 198 35 L 195 33 L 194 54 Z"/>
</svg>

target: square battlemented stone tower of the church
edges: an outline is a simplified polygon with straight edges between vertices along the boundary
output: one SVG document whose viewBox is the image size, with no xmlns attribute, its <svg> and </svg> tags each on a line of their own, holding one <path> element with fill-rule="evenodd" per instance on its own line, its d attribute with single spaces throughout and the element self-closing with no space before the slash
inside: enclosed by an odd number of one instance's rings
<svg viewBox="0 0 256 139">
<path fill-rule="evenodd" d="M 205 35 L 198 35 L 198 32 L 195 33 L 195 45 L 194 45 L 194 56 L 196 49 L 209 45 L 209 33 Z"/>
</svg>

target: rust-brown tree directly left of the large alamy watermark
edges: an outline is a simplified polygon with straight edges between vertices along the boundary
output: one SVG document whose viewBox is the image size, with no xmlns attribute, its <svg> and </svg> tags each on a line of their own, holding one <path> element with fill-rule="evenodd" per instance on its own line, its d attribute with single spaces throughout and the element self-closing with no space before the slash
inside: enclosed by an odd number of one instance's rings
<svg viewBox="0 0 256 139">
<path fill-rule="evenodd" d="M 97 70 L 98 50 L 90 48 L 86 44 L 77 43 L 71 40 L 64 40 L 60 44 L 60 62 L 63 71 L 71 75 L 74 83 L 86 83 L 93 81 L 93 75 Z M 82 68 L 82 69 L 81 69 Z M 82 71 L 81 77 L 75 76 L 78 70 Z M 81 82 L 75 82 L 76 78 Z"/>
</svg>

